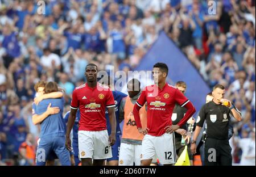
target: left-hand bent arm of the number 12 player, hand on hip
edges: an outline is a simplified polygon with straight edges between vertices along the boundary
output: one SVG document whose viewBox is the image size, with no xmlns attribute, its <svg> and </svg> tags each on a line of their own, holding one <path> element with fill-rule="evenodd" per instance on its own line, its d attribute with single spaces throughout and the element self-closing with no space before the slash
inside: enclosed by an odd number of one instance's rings
<svg viewBox="0 0 256 177">
<path fill-rule="evenodd" d="M 141 109 L 145 103 L 146 103 L 146 91 L 142 91 L 141 96 L 139 96 L 136 104 L 134 104 L 133 116 L 134 116 L 134 120 L 137 125 L 137 128 L 139 130 L 139 133 L 143 133 L 143 134 L 147 134 L 148 129 L 142 128 L 141 117 L 139 116 L 139 109 Z"/>
</svg>

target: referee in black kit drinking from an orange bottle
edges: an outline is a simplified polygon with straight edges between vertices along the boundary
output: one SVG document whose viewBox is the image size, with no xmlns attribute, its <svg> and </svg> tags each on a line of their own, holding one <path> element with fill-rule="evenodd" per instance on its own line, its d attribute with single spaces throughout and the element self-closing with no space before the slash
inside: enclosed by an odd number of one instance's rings
<svg viewBox="0 0 256 177">
<path fill-rule="evenodd" d="M 232 165 L 231 147 L 228 140 L 229 114 L 231 113 L 236 120 L 241 121 L 241 112 L 229 100 L 223 99 L 224 94 L 224 86 L 219 84 L 214 86 L 212 102 L 204 104 L 197 117 L 196 129 L 191 141 L 191 152 L 196 153 L 196 138 L 206 120 L 207 138 L 204 149 L 206 166 Z"/>
</svg>

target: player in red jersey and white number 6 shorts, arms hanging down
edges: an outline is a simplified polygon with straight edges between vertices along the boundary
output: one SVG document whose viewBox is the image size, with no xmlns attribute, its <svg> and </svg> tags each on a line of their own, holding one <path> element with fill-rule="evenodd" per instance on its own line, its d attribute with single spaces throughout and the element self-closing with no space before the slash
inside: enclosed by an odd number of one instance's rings
<svg viewBox="0 0 256 177">
<path fill-rule="evenodd" d="M 68 118 L 66 147 L 71 150 L 69 135 L 80 109 L 79 157 L 82 165 L 104 165 L 104 159 L 112 157 L 111 147 L 115 143 L 115 102 L 109 87 L 97 82 L 97 66 L 88 64 L 85 68 L 87 82 L 76 87 L 71 101 Z M 108 108 L 111 134 L 108 136 L 105 118 Z"/>
</svg>

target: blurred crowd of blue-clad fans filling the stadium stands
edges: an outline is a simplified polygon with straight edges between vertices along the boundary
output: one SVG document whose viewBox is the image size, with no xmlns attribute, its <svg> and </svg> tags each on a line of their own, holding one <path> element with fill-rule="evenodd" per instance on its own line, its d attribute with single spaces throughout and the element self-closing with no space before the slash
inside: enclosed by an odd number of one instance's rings
<svg viewBox="0 0 256 177">
<path fill-rule="evenodd" d="M 133 70 L 161 30 L 209 87 L 224 85 L 226 98 L 242 111 L 230 140 L 233 162 L 240 162 L 235 142 L 255 127 L 255 1 L 214 1 L 215 15 L 207 0 L 44 2 L 40 11 L 37 1 L 0 0 L 0 165 L 24 165 L 22 143 L 36 147 L 36 82 L 64 88 L 65 113 L 73 89 L 85 82 L 86 64 Z"/>
</svg>

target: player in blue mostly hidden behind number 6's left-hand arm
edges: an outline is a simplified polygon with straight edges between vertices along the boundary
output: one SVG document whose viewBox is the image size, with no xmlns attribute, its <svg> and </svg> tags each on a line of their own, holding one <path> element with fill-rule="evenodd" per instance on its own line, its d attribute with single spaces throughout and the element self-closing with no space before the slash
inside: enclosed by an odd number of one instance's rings
<svg viewBox="0 0 256 177">
<path fill-rule="evenodd" d="M 64 121 L 67 124 L 68 123 L 68 116 L 70 111 L 68 111 L 64 116 Z M 80 111 L 79 109 L 76 112 L 76 120 L 75 124 L 73 125 L 73 138 L 72 138 L 72 147 L 73 147 L 73 153 L 75 158 L 75 166 L 79 165 L 80 159 L 79 159 L 79 149 L 78 149 L 78 130 L 79 130 L 79 120 L 80 120 Z"/>
</svg>

